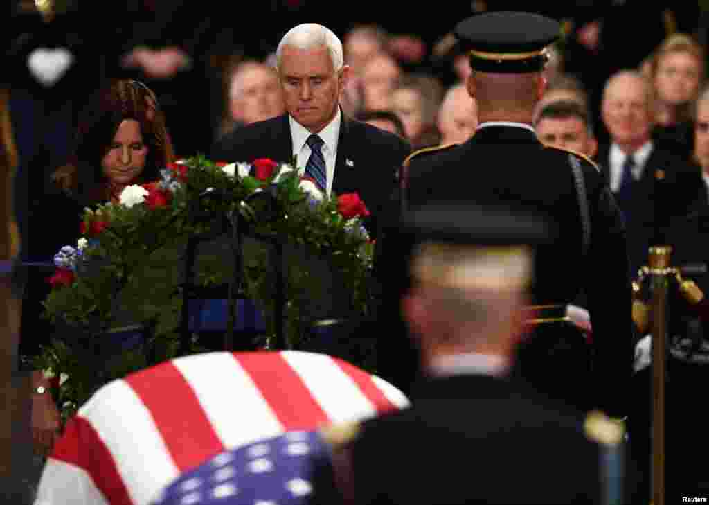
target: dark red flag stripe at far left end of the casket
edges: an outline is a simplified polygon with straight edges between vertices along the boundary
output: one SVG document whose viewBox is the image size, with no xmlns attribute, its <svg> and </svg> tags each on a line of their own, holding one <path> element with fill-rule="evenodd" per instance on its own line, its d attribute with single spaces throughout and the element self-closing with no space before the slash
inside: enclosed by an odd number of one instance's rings
<svg viewBox="0 0 709 505">
<path fill-rule="evenodd" d="M 113 456 L 86 419 L 79 416 L 69 419 L 51 457 L 84 470 L 111 505 L 133 505 Z M 65 483 L 55 485 L 64 487 Z"/>
</svg>

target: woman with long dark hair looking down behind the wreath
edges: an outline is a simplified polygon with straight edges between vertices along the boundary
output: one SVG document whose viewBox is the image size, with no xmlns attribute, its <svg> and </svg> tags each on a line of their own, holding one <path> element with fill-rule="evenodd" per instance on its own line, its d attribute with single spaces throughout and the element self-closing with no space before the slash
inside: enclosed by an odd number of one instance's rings
<svg viewBox="0 0 709 505">
<path fill-rule="evenodd" d="M 172 143 L 155 94 L 138 81 L 116 80 L 92 97 L 79 116 L 75 145 L 69 164 L 52 174 L 54 194 L 43 195 L 37 228 L 43 229 L 38 253 L 50 261 L 63 245 L 76 243 L 82 209 L 106 201 L 117 202 L 123 188 L 160 179 L 160 170 L 172 162 Z M 39 353 L 54 328 L 40 318 L 41 302 L 50 290 L 44 270 L 28 270 L 21 319 L 20 353 Z M 41 372 L 33 384 L 48 389 Z M 35 399 L 36 397 L 36 399 Z M 33 397 L 35 445 L 41 453 L 51 450 L 59 429 L 58 414 L 47 396 Z"/>
</svg>

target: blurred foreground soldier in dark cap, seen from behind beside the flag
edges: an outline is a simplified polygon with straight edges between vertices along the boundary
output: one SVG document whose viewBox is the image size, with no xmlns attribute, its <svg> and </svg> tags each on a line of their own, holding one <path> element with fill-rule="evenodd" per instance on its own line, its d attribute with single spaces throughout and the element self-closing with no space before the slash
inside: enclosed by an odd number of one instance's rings
<svg viewBox="0 0 709 505">
<path fill-rule="evenodd" d="M 425 374 L 410 408 L 360 423 L 335 447 L 310 502 L 341 502 L 334 490 L 357 504 L 623 503 L 635 492 L 624 475 L 635 474 L 622 426 L 509 376 L 533 250 L 554 227 L 504 208 L 426 204 L 394 233 Z"/>
</svg>

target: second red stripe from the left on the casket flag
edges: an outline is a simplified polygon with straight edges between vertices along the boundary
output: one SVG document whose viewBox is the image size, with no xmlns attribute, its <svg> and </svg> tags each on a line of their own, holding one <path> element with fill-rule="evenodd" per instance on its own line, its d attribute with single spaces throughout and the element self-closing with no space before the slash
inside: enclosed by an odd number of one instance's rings
<svg viewBox="0 0 709 505">
<path fill-rule="evenodd" d="M 131 374 L 125 382 L 150 411 L 167 451 L 181 472 L 223 453 L 224 445 L 194 389 L 172 362 Z"/>
</svg>

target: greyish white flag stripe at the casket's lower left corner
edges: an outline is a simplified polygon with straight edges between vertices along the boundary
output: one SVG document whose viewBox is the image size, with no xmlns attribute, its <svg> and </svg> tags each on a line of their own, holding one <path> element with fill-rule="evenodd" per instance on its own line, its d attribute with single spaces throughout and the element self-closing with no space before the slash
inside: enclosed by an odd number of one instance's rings
<svg viewBox="0 0 709 505">
<path fill-rule="evenodd" d="M 108 501 L 84 470 L 50 457 L 34 505 L 108 505 Z"/>
</svg>

